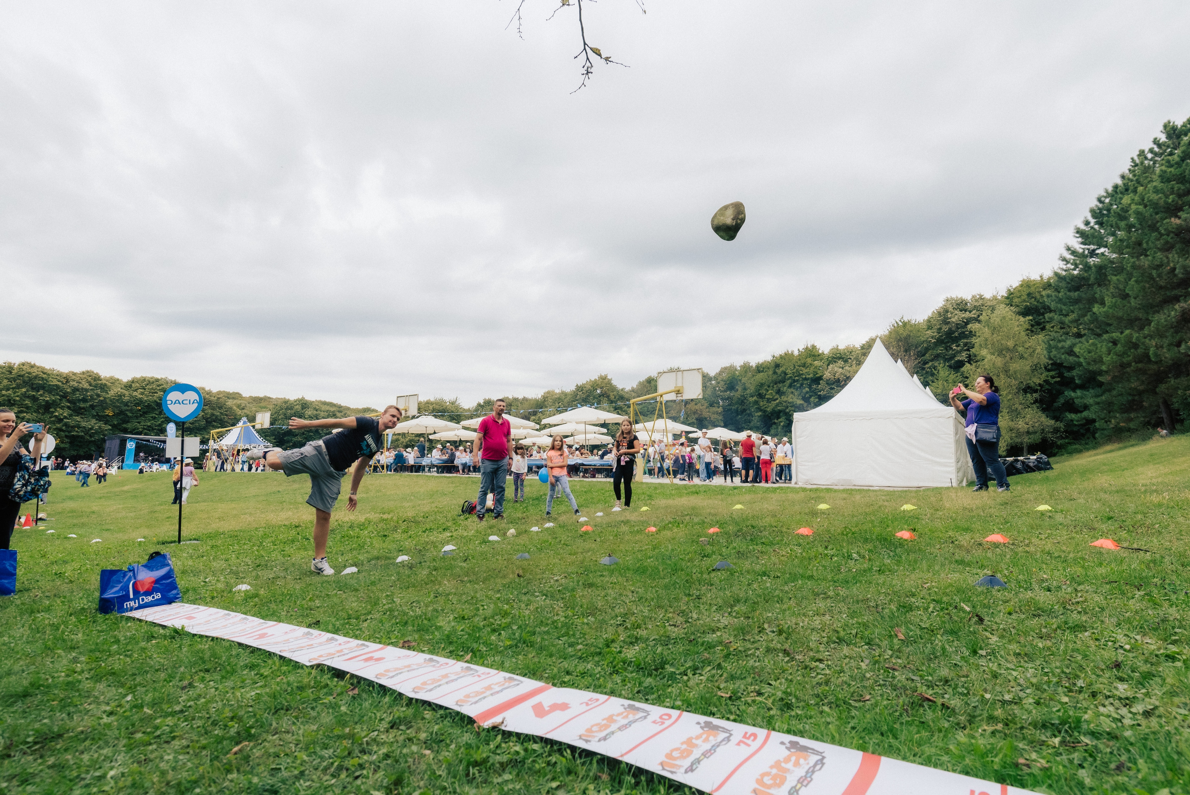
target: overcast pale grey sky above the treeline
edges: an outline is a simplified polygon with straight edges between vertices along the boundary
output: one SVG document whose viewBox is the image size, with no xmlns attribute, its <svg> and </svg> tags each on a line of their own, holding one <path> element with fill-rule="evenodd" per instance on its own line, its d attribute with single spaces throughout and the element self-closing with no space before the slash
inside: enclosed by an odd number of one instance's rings
<svg viewBox="0 0 1190 795">
<path fill-rule="evenodd" d="M 1048 273 L 1190 115 L 1184 0 L 588 0 L 627 68 L 577 93 L 555 5 L 0 4 L 0 358 L 372 406 L 713 373 Z"/>
</svg>

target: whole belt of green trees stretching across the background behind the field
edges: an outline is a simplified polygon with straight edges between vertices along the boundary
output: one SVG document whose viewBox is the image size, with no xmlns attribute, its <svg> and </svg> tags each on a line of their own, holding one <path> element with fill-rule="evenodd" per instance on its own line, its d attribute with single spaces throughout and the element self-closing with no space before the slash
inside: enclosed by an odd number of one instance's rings
<svg viewBox="0 0 1190 795">
<path fill-rule="evenodd" d="M 994 376 L 1004 406 L 1004 452 L 1180 427 L 1190 412 L 1190 119 L 1166 123 L 1152 146 L 1130 159 L 1059 259 L 1052 274 L 1023 278 L 1003 294 L 951 296 L 922 320 L 892 320 L 879 338 L 940 400 L 959 381 Z M 671 402 L 669 414 L 696 427 L 788 436 L 794 412 L 838 394 L 875 339 L 728 364 L 706 374 L 701 400 Z M 90 455 L 108 433 L 162 436 L 161 398 L 175 382 L 7 362 L 0 365 L 0 406 L 18 419 L 49 422 L 60 452 Z M 572 389 L 503 398 L 514 414 L 539 419 L 575 406 L 624 413 L 618 408 L 626 411 L 631 398 L 652 392 L 652 376 L 620 387 L 599 375 Z M 188 436 L 205 438 L 258 411 L 273 412 L 275 424 L 376 411 L 306 398 L 202 394 L 202 414 L 187 424 Z M 434 398 L 422 400 L 420 411 L 461 421 L 489 411 L 495 398 L 474 406 Z M 273 428 L 262 436 L 288 447 L 317 434 Z"/>
</svg>

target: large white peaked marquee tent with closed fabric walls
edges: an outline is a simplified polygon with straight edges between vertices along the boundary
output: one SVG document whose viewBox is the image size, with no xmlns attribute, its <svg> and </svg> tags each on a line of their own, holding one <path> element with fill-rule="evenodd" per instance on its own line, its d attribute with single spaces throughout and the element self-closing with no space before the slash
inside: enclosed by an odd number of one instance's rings
<svg viewBox="0 0 1190 795">
<path fill-rule="evenodd" d="M 927 488 L 975 480 L 963 420 L 877 339 L 838 395 L 794 414 L 794 482 Z"/>
</svg>

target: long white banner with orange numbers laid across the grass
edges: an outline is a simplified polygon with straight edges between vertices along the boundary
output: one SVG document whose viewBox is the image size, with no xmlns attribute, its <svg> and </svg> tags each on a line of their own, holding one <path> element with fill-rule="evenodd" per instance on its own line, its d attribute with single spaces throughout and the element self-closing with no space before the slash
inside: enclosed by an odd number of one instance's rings
<svg viewBox="0 0 1190 795">
<path fill-rule="evenodd" d="M 302 665 L 330 665 L 462 712 L 481 726 L 569 743 L 716 795 L 1035 795 L 729 720 L 556 688 L 438 655 L 213 607 L 175 602 L 124 615 L 234 640 Z"/>
</svg>

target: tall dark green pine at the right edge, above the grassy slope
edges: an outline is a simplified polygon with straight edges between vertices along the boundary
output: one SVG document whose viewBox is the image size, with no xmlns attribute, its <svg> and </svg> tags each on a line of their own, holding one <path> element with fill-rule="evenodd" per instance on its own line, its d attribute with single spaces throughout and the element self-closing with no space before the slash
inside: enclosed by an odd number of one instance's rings
<svg viewBox="0 0 1190 795">
<path fill-rule="evenodd" d="M 1047 293 L 1069 418 L 1172 431 L 1190 411 L 1190 119 L 1164 125 L 1075 236 Z"/>
</svg>

